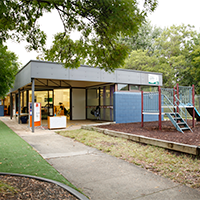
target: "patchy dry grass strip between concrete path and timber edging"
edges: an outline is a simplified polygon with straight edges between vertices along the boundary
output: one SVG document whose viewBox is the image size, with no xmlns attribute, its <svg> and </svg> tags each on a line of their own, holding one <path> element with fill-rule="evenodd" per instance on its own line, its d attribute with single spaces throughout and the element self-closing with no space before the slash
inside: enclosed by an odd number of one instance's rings
<svg viewBox="0 0 200 200">
<path fill-rule="evenodd" d="M 197 156 L 144 145 L 96 131 L 80 129 L 57 133 L 141 166 L 175 182 L 200 189 L 200 158 Z"/>
</svg>

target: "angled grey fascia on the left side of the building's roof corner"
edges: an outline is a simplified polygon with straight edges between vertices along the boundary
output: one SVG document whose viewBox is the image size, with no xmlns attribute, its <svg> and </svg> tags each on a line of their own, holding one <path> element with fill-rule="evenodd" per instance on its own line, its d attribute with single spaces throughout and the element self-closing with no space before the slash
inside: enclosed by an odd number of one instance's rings
<svg viewBox="0 0 200 200">
<path fill-rule="evenodd" d="M 10 92 L 18 90 L 21 87 L 31 83 L 31 63 L 27 64 L 15 77 L 15 83 Z"/>
</svg>

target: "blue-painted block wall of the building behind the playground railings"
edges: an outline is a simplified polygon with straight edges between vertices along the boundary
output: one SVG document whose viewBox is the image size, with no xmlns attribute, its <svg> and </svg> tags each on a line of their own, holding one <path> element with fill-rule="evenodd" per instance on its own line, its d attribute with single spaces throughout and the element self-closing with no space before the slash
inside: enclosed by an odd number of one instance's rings
<svg viewBox="0 0 200 200">
<path fill-rule="evenodd" d="M 141 122 L 141 93 L 114 92 L 114 121 Z M 158 115 L 144 115 L 144 121 L 158 121 Z"/>
</svg>

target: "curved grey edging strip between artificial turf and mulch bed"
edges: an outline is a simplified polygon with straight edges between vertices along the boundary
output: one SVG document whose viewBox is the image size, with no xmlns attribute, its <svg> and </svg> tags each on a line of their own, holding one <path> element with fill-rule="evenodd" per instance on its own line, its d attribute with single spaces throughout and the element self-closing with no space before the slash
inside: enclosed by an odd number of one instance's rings
<svg viewBox="0 0 200 200">
<path fill-rule="evenodd" d="M 75 189 L 65 185 L 64 183 L 60 183 L 58 181 L 54 181 L 54 180 L 51 180 L 51 179 L 37 177 L 37 176 L 31 176 L 31 175 L 26 175 L 26 174 L 15 174 L 15 173 L 6 173 L 6 172 L 0 172 L 0 175 L 9 175 L 9 176 L 33 178 L 33 179 L 36 179 L 36 180 L 39 180 L 39 181 L 53 183 L 53 184 L 56 184 L 56 185 L 62 187 L 65 190 L 67 190 L 70 194 L 74 195 L 75 197 L 77 197 L 80 200 L 89 200 L 86 196 L 84 196 L 80 192 L 76 191 Z"/>
</svg>

